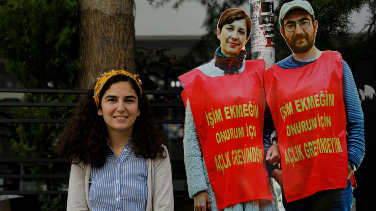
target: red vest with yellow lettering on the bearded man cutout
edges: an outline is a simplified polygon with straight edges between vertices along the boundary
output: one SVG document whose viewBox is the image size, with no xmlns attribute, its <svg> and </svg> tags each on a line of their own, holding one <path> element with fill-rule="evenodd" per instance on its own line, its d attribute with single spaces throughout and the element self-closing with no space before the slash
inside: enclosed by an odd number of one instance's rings
<svg viewBox="0 0 376 211">
<path fill-rule="evenodd" d="M 296 69 L 265 71 L 265 91 L 278 135 L 287 202 L 345 188 L 346 113 L 341 54 L 324 51 Z"/>
</svg>

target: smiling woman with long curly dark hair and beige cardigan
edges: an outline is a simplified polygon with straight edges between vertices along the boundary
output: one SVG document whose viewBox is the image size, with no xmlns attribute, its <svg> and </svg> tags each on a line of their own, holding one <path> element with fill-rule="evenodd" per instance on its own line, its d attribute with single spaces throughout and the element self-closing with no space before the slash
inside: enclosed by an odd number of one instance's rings
<svg viewBox="0 0 376 211">
<path fill-rule="evenodd" d="M 57 146 L 72 164 L 67 210 L 173 210 L 167 142 L 141 84 L 105 72 L 80 102 Z"/>
</svg>

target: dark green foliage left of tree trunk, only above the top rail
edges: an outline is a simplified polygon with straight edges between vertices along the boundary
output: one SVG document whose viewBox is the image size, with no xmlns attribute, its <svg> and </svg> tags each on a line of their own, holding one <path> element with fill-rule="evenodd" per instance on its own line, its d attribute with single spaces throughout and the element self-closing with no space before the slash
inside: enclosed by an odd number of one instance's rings
<svg viewBox="0 0 376 211">
<path fill-rule="evenodd" d="M 75 47 L 77 2 L 2 0 L 0 55 L 27 88 L 73 88 L 80 69 Z M 50 83 L 53 81 L 53 84 Z"/>
</svg>

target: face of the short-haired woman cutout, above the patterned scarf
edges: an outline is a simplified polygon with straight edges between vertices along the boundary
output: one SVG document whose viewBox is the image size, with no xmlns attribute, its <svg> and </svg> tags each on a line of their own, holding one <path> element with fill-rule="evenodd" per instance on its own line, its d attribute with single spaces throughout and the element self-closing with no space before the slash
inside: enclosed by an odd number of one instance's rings
<svg viewBox="0 0 376 211">
<path fill-rule="evenodd" d="M 222 30 L 217 28 L 217 38 L 221 41 L 221 53 L 224 56 L 238 56 L 249 38 L 247 38 L 246 20 L 235 20 L 225 24 Z"/>
</svg>

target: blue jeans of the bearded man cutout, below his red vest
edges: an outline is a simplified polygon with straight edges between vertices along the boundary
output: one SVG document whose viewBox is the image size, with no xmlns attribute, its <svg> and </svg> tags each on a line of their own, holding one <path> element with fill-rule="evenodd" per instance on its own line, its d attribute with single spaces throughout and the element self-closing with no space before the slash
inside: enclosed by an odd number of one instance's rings
<svg viewBox="0 0 376 211">
<path fill-rule="evenodd" d="M 318 191 L 317 193 L 293 202 L 286 202 L 283 185 L 281 185 L 282 203 L 286 211 L 351 211 L 353 202 L 350 179 L 347 180 L 346 188 Z"/>
</svg>

